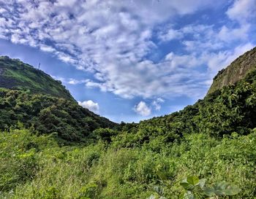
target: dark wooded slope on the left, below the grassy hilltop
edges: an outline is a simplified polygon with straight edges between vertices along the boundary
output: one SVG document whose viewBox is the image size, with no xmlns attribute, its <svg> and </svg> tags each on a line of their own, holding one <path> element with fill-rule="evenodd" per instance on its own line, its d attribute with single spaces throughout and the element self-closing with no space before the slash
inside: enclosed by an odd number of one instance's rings
<svg viewBox="0 0 256 199">
<path fill-rule="evenodd" d="M 116 123 L 90 112 L 75 101 L 22 90 L 0 88 L 0 129 L 22 122 L 38 134 L 54 133 L 61 143 L 89 142 L 97 128 L 113 128 Z"/>
</svg>

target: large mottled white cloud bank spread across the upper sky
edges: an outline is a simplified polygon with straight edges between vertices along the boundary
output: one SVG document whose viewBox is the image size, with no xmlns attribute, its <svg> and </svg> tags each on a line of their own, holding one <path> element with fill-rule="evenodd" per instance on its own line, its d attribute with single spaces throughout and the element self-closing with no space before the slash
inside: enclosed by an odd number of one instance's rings
<svg viewBox="0 0 256 199">
<path fill-rule="evenodd" d="M 234 1 L 227 16 L 238 20 L 238 6 L 251 9 L 254 1 Z M 200 97 L 212 74 L 202 74 L 198 68 L 207 65 L 208 58 L 223 60 L 227 54 L 223 47 L 246 38 L 250 28 L 248 22 L 236 28 L 173 26 L 175 17 L 218 7 L 224 0 L 6 0 L 0 4 L 0 38 L 53 53 L 94 76 L 86 81 L 67 79 L 69 84 L 84 83 L 123 98 Z M 167 28 L 156 28 L 165 23 L 170 23 Z M 156 35 L 160 42 L 182 38 L 185 52 L 170 47 L 162 60 L 151 61 L 148 53 L 157 50 Z"/>
</svg>

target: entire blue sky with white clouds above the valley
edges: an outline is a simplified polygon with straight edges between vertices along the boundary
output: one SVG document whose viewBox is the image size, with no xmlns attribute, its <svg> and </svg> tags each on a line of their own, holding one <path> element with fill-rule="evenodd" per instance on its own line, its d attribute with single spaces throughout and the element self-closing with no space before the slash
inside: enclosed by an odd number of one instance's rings
<svg viewBox="0 0 256 199">
<path fill-rule="evenodd" d="M 0 0 L 0 55 L 115 122 L 194 104 L 255 46 L 256 0 Z"/>
</svg>

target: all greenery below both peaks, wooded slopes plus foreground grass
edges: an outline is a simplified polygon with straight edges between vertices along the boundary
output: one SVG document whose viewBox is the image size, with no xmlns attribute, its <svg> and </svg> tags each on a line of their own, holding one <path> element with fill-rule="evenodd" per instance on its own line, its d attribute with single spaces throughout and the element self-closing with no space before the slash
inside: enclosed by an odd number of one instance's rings
<svg viewBox="0 0 256 199">
<path fill-rule="evenodd" d="M 138 124 L 8 89 L 0 115 L 0 199 L 256 197 L 256 71 Z"/>
</svg>

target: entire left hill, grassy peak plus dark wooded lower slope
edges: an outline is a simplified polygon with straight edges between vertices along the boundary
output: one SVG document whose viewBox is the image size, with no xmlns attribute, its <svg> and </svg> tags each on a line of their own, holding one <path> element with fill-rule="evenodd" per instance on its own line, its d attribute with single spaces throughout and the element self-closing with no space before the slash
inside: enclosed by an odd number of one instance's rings
<svg viewBox="0 0 256 199">
<path fill-rule="evenodd" d="M 89 142 L 97 128 L 116 123 L 84 109 L 61 82 L 17 59 L 0 57 L 0 129 L 22 122 L 61 142 Z"/>
</svg>

